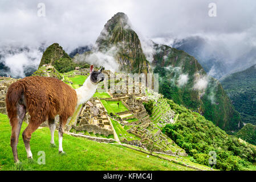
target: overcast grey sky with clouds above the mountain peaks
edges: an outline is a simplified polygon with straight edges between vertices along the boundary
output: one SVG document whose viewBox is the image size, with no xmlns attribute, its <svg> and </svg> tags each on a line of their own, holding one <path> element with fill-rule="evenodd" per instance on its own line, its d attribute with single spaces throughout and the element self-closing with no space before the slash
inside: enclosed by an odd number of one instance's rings
<svg viewBox="0 0 256 182">
<path fill-rule="evenodd" d="M 38 16 L 38 3 L 46 16 Z M 216 3 L 217 16 L 208 15 Z M 240 44 L 256 45 L 256 1 L 0 1 L 0 46 L 38 45 L 58 42 L 66 51 L 92 44 L 104 24 L 117 12 L 128 15 L 133 28 L 145 39 L 171 44 L 174 38 L 206 36 Z"/>
</svg>

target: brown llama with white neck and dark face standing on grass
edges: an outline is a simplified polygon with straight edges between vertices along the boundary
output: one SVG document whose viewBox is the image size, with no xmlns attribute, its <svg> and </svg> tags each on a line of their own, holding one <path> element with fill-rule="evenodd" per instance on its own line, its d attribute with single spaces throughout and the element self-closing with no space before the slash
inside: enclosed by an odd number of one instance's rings
<svg viewBox="0 0 256 182">
<path fill-rule="evenodd" d="M 22 133 L 27 158 L 32 159 L 30 150 L 31 134 L 38 129 L 41 123 L 48 121 L 51 131 L 51 145 L 54 144 L 56 115 L 59 115 L 59 152 L 63 154 L 62 137 L 67 119 L 74 114 L 75 107 L 90 100 L 97 89 L 97 84 L 104 80 L 104 74 L 94 71 L 90 66 L 90 76 L 83 86 L 73 89 L 56 78 L 30 76 L 18 80 L 10 85 L 6 94 L 6 110 L 10 119 L 11 148 L 14 162 L 19 162 L 17 144 L 21 131 L 22 121 L 26 111 L 30 114 L 29 125 Z"/>
</svg>

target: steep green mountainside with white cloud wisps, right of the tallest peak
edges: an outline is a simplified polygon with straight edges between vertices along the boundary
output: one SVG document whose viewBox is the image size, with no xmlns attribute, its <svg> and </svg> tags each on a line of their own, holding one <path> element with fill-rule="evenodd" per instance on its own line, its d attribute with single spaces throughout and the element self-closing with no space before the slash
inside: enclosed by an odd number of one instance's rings
<svg viewBox="0 0 256 182">
<path fill-rule="evenodd" d="M 169 46 L 154 44 L 152 66 L 159 73 L 159 92 L 182 104 L 226 131 L 238 130 L 241 122 L 220 82 L 206 72 L 188 53 Z"/>
</svg>

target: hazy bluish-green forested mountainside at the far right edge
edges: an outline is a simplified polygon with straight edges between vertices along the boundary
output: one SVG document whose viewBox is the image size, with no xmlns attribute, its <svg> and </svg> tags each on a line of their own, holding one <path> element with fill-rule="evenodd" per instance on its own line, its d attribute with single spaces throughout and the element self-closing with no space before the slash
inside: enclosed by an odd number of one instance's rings
<svg viewBox="0 0 256 182">
<path fill-rule="evenodd" d="M 221 80 L 242 121 L 256 125 L 256 64 Z"/>
</svg>

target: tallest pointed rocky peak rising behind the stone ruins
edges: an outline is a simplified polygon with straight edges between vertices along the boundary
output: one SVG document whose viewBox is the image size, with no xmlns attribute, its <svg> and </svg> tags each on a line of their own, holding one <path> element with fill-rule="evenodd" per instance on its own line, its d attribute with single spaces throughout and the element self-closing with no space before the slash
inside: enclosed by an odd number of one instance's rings
<svg viewBox="0 0 256 182">
<path fill-rule="evenodd" d="M 115 51 L 119 70 L 128 73 L 148 73 L 151 67 L 147 61 L 138 35 L 132 30 L 127 15 L 117 13 L 105 24 L 96 40 L 97 51 Z"/>
</svg>

